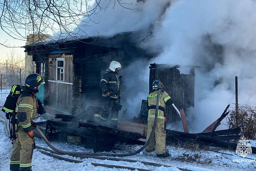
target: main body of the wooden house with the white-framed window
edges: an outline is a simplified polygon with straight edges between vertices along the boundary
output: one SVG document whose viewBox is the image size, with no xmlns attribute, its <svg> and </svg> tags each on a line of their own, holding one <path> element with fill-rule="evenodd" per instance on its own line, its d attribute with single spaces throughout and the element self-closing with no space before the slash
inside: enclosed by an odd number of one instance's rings
<svg viewBox="0 0 256 171">
<path fill-rule="evenodd" d="M 151 58 L 136 47 L 139 39 L 133 37 L 129 32 L 26 45 L 25 51 L 36 62 L 36 73 L 45 78 L 38 98 L 55 113 L 75 114 L 83 105 L 82 95 L 97 104 L 102 99 L 99 81 L 111 61 L 125 67 L 135 59 Z"/>
</svg>

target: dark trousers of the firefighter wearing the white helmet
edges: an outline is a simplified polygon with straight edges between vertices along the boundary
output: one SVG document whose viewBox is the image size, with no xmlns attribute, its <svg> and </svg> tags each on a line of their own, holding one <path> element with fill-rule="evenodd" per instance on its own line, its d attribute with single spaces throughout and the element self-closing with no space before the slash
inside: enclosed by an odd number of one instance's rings
<svg viewBox="0 0 256 171">
<path fill-rule="evenodd" d="M 105 105 L 101 116 L 106 119 L 111 113 L 111 120 L 117 121 L 119 110 L 116 103 L 120 103 L 120 99 L 105 98 Z"/>
</svg>

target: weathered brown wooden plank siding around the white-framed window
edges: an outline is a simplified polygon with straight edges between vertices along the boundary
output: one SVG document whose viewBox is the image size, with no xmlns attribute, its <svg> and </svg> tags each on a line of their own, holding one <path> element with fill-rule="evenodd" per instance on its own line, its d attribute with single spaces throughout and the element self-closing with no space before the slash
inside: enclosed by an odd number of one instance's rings
<svg viewBox="0 0 256 171">
<path fill-rule="evenodd" d="M 64 58 L 64 82 L 52 82 L 56 81 L 56 58 Z M 53 66 L 49 66 L 48 63 L 48 106 L 64 109 L 71 113 L 73 96 L 73 55 L 49 55 L 49 62 L 50 61 L 53 62 Z"/>
</svg>

